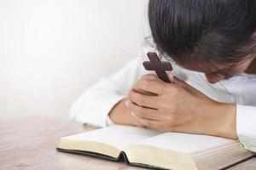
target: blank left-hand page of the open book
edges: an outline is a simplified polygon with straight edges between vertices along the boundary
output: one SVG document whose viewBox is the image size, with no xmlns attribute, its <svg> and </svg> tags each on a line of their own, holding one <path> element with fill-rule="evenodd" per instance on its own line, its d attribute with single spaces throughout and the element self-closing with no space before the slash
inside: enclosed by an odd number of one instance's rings
<svg viewBox="0 0 256 170">
<path fill-rule="evenodd" d="M 133 144 L 160 133 L 162 132 L 143 127 L 114 125 L 112 127 L 104 127 L 86 133 L 67 136 L 62 139 L 101 142 L 113 145 L 121 150 L 127 144 Z"/>
</svg>

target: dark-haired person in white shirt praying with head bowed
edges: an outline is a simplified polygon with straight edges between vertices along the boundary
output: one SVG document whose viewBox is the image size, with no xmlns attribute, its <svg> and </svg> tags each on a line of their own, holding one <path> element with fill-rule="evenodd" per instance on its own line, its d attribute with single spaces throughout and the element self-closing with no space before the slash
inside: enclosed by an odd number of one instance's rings
<svg viewBox="0 0 256 170">
<path fill-rule="evenodd" d="M 174 84 L 133 59 L 84 92 L 73 118 L 239 139 L 256 152 L 255 1 L 151 0 L 148 20 L 150 51 L 172 62 Z"/>
</svg>

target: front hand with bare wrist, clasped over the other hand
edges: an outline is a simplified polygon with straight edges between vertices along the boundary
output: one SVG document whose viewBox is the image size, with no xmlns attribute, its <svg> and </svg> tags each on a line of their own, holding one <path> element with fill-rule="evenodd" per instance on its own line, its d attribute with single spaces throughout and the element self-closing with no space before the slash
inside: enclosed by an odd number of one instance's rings
<svg viewBox="0 0 256 170">
<path fill-rule="evenodd" d="M 133 86 L 125 105 L 137 126 L 237 139 L 236 105 L 214 101 L 175 77 L 173 81 L 149 74 Z"/>
</svg>

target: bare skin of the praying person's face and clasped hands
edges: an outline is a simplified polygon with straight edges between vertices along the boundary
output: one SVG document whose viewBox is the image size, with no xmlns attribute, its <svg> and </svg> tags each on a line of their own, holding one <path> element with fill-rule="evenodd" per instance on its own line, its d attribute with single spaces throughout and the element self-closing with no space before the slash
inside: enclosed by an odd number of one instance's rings
<svg viewBox="0 0 256 170">
<path fill-rule="evenodd" d="M 203 70 L 200 65 L 183 65 L 191 71 L 204 72 L 215 83 L 249 71 L 256 74 L 255 56 L 235 65 L 215 65 Z M 227 76 L 227 72 L 229 72 Z M 172 77 L 174 84 L 161 81 L 154 74 L 141 77 L 110 111 L 117 124 L 149 127 L 166 132 L 200 133 L 237 139 L 236 105 L 219 103 L 201 94 L 189 84 Z M 148 95 L 150 93 L 150 95 Z"/>
</svg>

